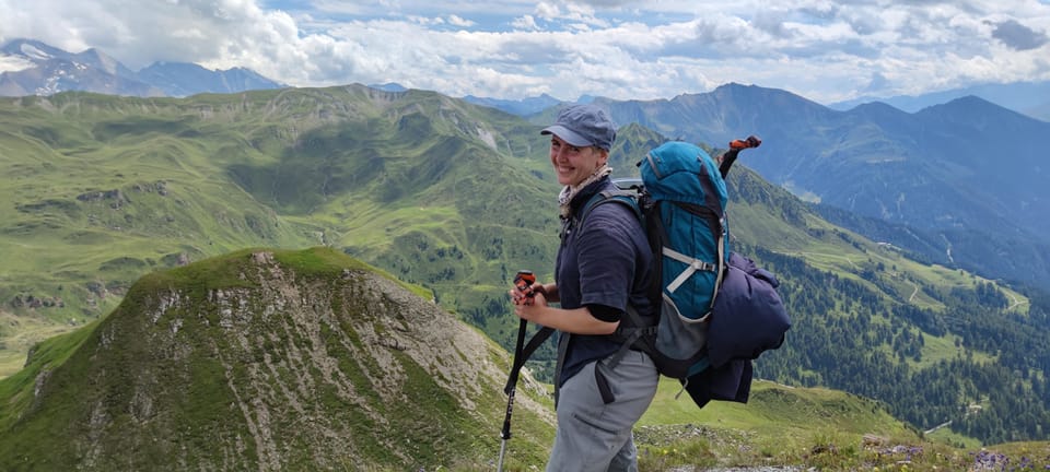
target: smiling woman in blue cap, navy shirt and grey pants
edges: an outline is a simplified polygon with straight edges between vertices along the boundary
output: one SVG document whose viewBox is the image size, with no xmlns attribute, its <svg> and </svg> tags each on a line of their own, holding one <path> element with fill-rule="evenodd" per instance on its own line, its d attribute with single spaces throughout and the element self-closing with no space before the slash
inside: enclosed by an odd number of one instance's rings
<svg viewBox="0 0 1050 472">
<path fill-rule="evenodd" d="M 628 304 L 642 316 L 654 311 L 646 296 L 652 253 L 627 205 L 597 205 L 581 227 L 571 224 L 591 197 L 616 190 L 607 165 L 616 127 L 608 115 L 594 105 L 569 106 L 541 133 L 550 135 L 550 163 L 564 186 L 556 282 L 534 285 L 530 297 L 517 287 L 510 294 L 515 315 L 560 334 L 558 430 L 547 471 L 637 471 L 631 429 L 652 402 L 658 375 L 641 351 L 629 351 L 614 368 L 608 358 L 622 344 L 612 334 Z"/>
</svg>

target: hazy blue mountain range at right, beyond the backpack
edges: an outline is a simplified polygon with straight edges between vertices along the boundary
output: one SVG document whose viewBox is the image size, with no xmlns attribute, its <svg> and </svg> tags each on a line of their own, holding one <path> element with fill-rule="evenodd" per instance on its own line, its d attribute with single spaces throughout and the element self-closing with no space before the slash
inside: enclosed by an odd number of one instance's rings
<svg viewBox="0 0 1050 472">
<path fill-rule="evenodd" d="M 1050 287 L 1050 175 L 1036 138 L 1050 135 L 1046 121 L 973 96 L 914 114 L 884 104 L 838 111 L 737 84 L 670 101 L 597 103 L 617 122 L 688 141 L 758 134 L 767 142 L 747 165 L 770 182 L 829 212 L 877 221 L 883 241 L 930 261 Z"/>
</svg>

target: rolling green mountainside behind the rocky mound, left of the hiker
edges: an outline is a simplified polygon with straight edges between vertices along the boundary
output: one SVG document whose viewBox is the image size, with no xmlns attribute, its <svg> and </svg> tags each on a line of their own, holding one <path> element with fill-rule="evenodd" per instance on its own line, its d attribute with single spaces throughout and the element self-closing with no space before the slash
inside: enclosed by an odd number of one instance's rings
<svg viewBox="0 0 1050 472">
<path fill-rule="evenodd" d="M 513 261 L 552 252 L 537 237 L 550 212 L 506 216 L 547 193 L 532 158 L 544 140 L 438 94 L 70 93 L 7 98 L 0 128 L 0 311 L 18 316 L 0 332 L 0 375 L 52 324 L 115 307 L 138 276 L 237 248 L 339 247 L 450 306 L 478 305 Z"/>
</svg>

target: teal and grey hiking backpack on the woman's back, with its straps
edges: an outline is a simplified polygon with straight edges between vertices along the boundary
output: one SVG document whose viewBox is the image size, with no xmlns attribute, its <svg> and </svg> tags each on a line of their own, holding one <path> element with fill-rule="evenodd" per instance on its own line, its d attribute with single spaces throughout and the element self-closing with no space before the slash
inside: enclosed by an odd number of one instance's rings
<svg viewBox="0 0 1050 472">
<path fill-rule="evenodd" d="M 610 363 L 640 349 L 661 374 L 685 379 L 708 366 L 708 322 L 730 257 L 728 196 L 718 164 L 695 144 L 667 142 L 639 167 L 641 180 L 617 179 L 621 191 L 596 194 L 580 217 L 607 202 L 627 204 L 656 256 L 660 280 L 650 286 L 650 298 L 660 307 L 658 319 L 642 319 L 628 307 L 617 331 L 623 344 Z"/>
</svg>

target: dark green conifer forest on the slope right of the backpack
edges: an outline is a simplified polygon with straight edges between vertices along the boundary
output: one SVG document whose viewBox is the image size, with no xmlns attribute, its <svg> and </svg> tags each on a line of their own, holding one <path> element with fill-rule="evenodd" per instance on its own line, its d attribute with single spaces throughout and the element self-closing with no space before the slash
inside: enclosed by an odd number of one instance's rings
<svg viewBox="0 0 1050 472">
<path fill-rule="evenodd" d="M 758 377 L 880 399 L 918 428 L 950 422 L 954 430 L 985 444 L 1047 437 L 1050 355 L 1043 340 L 1050 334 L 1050 306 L 1045 296 L 1030 296 L 1024 317 L 1006 312 L 1006 298 L 991 284 L 950 293 L 922 287 L 948 307 L 944 314 L 906 304 L 887 309 L 856 281 L 797 258 L 754 252 L 771 271 L 785 274 L 780 293 L 794 316 L 789 342 L 756 362 Z M 968 354 L 924 363 L 922 347 L 933 337 L 952 338 Z"/>
</svg>

